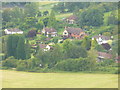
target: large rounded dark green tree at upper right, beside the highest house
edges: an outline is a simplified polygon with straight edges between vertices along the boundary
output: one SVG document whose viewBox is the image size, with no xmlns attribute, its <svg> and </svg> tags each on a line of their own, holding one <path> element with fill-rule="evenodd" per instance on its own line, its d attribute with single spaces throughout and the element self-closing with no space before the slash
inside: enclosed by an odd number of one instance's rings
<svg viewBox="0 0 120 90">
<path fill-rule="evenodd" d="M 99 9 L 88 9 L 79 16 L 80 26 L 101 26 L 103 24 L 103 12 Z"/>
</svg>

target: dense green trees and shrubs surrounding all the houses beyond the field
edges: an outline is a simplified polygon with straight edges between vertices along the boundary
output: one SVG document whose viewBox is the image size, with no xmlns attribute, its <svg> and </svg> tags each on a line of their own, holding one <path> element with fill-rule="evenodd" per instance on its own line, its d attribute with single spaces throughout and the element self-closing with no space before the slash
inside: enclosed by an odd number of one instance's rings
<svg viewBox="0 0 120 90">
<path fill-rule="evenodd" d="M 111 42 L 112 55 L 118 54 L 118 29 L 119 24 L 117 5 L 118 3 L 81 3 L 81 2 L 61 2 L 49 7 L 51 10 L 41 10 L 46 7 L 39 3 L 4 3 L 14 7 L 2 10 L 3 27 L 19 28 L 24 31 L 23 35 L 4 35 L 3 39 L 3 69 L 16 68 L 18 71 L 33 72 L 56 72 L 56 71 L 103 71 L 118 73 L 118 65 L 115 58 L 105 59 L 103 62 L 96 62 L 97 51 L 108 52 L 98 45 L 92 36 L 102 34 L 113 36 Z M 14 5 L 13 5 L 14 4 Z M 24 8 L 20 8 L 22 4 Z M 68 24 L 61 19 L 64 15 L 76 15 L 76 24 Z M 60 15 L 63 15 L 62 17 Z M 58 43 L 62 37 L 65 26 L 82 28 L 88 34 L 82 40 L 66 39 Z M 57 37 L 47 37 L 41 32 L 43 27 L 55 28 Z M 53 49 L 43 51 L 39 48 L 37 41 L 44 44 L 55 43 Z M 31 46 L 37 44 L 37 48 Z"/>
</svg>

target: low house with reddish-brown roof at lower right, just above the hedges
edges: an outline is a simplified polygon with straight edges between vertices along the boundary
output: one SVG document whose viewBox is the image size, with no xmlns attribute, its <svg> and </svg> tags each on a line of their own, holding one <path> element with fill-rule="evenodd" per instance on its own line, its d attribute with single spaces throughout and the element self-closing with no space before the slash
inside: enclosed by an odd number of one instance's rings
<svg viewBox="0 0 120 90">
<path fill-rule="evenodd" d="M 105 52 L 98 52 L 98 62 L 104 60 L 104 59 L 112 59 L 112 54 L 105 53 Z"/>
</svg>

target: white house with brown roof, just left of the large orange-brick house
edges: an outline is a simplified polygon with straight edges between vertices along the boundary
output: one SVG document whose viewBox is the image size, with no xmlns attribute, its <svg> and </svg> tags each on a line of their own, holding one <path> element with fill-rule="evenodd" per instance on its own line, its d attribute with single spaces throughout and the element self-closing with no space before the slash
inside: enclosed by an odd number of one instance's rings
<svg viewBox="0 0 120 90">
<path fill-rule="evenodd" d="M 47 37 L 57 36 L 57 31 L 54 28 L 43 28 L 42 33 Z"/>
</svg>

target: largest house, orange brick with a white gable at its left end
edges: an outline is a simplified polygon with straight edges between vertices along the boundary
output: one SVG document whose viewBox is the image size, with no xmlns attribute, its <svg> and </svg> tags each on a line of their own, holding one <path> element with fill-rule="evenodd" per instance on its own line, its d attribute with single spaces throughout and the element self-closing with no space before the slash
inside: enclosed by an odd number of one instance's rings
<svg viewBox="0 0 120 90">
<path fill-rule="evenodd" d="M 87 34 L 81 28 L 65 27 L 63 32 L 63 37 L 67 38 L 82 39 L 85 36 L 87 36 Z"/>
</svg>

